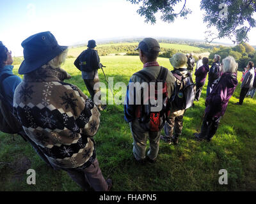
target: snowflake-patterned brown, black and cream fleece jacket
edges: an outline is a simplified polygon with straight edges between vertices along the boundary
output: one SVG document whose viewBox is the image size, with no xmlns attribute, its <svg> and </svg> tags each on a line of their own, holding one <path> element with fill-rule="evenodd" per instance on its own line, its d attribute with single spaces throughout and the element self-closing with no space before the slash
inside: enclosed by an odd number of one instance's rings
<svg viewBox="0 0 256 204">
<path fill-rule="evenodd" d="M 60 168 L 86 168 L 96 154 L 92 136 L 100 113 L 93 101 L 63 69 L 43 66 L 24 75 L 15 90 L 13 107 L 26 134 Z"/>
</svg>

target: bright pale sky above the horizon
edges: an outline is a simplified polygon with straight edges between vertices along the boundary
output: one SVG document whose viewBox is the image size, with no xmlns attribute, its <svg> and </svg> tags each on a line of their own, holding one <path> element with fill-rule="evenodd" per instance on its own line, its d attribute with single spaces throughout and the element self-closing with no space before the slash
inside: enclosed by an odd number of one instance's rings
<svg viewBox="0 0 256 204">
<path fill-rule="evenodd" d="M 189 0 L 187 6 L 192 10 L 187 19 L 177 18 L 168 24 L 157 14 L 156 24 L 151 25 L 136 13 L 139 6 L 126 0 L 1 0 L 0 41 L 20 56 L 22 41 L 44 31 L 51 31 L 60 45 L 131 36 L 204 40 L 207 27 L 200 0 Z M 256 29 L 248 36 L 249 43 L 256 45 Z M 232 43 L 228 39 L 216 41 Z"/>
</svg>

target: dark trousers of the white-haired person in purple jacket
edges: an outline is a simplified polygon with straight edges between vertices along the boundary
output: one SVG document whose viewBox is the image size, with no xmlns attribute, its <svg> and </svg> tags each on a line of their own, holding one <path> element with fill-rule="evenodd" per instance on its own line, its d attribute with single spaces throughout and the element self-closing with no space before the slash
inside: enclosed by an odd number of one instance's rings
<svg viewBox="0 0 256 204">
<path fill-rule="evenodd" d="M 205 115 L 204 121 L 201 127 L 200 138 L 207 138 L 211 140 L 211 138 L 215 135 L 221 117 L 208 117 Z"/>
</svg>

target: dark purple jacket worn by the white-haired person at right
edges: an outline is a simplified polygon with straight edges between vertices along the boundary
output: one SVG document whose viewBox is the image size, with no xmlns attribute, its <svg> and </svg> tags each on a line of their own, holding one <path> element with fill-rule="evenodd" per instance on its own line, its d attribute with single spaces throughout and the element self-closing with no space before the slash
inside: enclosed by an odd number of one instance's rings
<svg viewBox="0 0 256 204">
<path fill-rule="evenodd" d="M 211 94 L 205 100 L 207 105 L 205 115 L 210 117 L 223 116 L 237 84 L 236 73 L 223 73 L 220 82 L 214 85 Z"/>
</svg>

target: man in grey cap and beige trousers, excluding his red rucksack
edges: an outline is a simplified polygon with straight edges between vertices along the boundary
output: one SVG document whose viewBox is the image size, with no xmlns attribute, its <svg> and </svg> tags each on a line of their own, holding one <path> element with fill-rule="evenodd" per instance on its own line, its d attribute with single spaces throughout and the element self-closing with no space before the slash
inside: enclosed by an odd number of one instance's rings
<svg viewBox="0 0 256 204">
<path fill-rule="evenodd" d="M 161 68 L 157 62 L 157 57 L 160 51 L 159 43 L 153 38 L 145 38 L 143 39 L 139 46 L 135 49 L 140 51 L 140 61 L 143 63 L 143 69 L 138 73 L 143 74 L 144 76 L 151 75 L 152 78 L 157 78 L 161 75 L 161 71 L 164 70 L 166 73 L 166 85 L 168 97 L 172 96 L 173 87 L 174 87 L 174 77 L 170 71 L 166 68 Z M 139 82 L 142 84 L 145 81 L 145 78 L 139 77 L 134 73 L 132 75 L 129 85 L 133 82 Z M 159 151 L 159 140 L 160 140 L 160 131 L 147 131 L 143 128 L 143 123 L 141 118 L 145 116 L 145 112 L 140 112 L 140 105 L 130 105 L 129 101 L 133 101 L 133 96 L 136 96 L 136 91 L 129 90 L 129 85 L 127 86 L 127 94 L 125 100 L 127 103 L 124 105 L 124 115 L 125 120 L 129 122 L 131 133 L 133 137 L 133 154 L 137 163 L 145 163 L 145 161 L 149 161 L 150 163 L 156 162 L 156 157 Z M 134 91 L 134 92 L 132 92 Z M 133 94 L 131 94 L 131 92 Z M 131 98 L 129 100 L 129 98 Z M 142 94 L 141 94 L 142 98 Z M 149 139 L 150 149 L 146 154 L 147 147 L 147 138 Z M 145 160 L 146 159 L 146 160 Z"/>
</svg>

